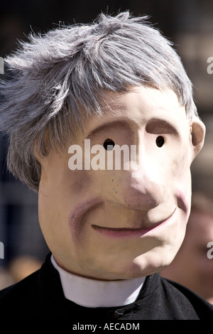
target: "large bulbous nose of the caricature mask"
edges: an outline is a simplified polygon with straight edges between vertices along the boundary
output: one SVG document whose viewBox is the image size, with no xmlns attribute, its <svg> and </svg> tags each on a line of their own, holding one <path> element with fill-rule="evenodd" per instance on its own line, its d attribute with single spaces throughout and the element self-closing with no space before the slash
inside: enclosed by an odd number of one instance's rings
<svg viewBox="0 0 213 334">
<path fill-rule="evenodd" d="M 116 200 L 127 208 L 151 210 L 162 203 L 165 192 L 162 159 L 155 154 L 155 146 L 144 145 L 143 140 L 134 147 L 129 169 L 116 172 Z"/>
</svg>

